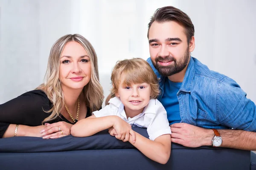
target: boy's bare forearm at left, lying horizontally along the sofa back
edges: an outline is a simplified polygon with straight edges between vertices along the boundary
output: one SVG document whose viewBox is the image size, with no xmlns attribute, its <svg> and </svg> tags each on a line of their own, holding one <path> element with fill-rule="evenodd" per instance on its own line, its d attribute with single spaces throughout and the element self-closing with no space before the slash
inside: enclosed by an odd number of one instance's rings
<svg viewBox="0 0 256 170">
<path fill-rule="evenodd" d="M 82 119 L 71 127 L 71 135 L 76 137 L 92 136 L 95 133 L 112 127 L 115 119 L 116 116 Z"/>
</svg>

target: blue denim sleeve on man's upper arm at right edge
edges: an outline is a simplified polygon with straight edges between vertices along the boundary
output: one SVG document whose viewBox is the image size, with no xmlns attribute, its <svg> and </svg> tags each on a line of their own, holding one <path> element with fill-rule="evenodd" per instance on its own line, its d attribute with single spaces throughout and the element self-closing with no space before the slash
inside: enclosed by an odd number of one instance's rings
<svg viewBox="0 0 256 170">
<path fill-rule="evenodd" d="M 256 132 L 256 105 L 230 78 L 219 83 L 217 116 L 221 125 Z"/>
</svg>

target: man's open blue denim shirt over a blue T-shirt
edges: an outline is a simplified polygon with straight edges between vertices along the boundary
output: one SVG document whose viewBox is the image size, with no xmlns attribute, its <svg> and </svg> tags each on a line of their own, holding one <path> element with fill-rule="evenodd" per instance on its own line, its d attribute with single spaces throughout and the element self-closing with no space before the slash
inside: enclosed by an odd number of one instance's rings
<svg viewBox="0 0 256 170">
<path fill-rule="evenodd" d="M 164 77 L 151 65 L 161 94 L 164 92 Z M 181 122 L 204 128 L 241 129 L 256 131 L 256 105 L 247 99 L 246 93 L 229 77 L 209 70 L 198 59 L 191 57 L 177 98 Z M 167 113 L 168 114 L 168 113 Z"/>
</svg>

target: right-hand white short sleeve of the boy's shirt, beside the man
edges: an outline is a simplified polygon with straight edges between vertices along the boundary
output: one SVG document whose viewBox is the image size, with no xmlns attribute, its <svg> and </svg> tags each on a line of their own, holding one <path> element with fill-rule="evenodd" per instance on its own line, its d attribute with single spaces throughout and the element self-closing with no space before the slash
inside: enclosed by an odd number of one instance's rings
<svg viewBox="0 0 256 170">
<path fill-rule="evenodd" d="M 154 141 L 157 137 L 165 134 L 172 134 L 167 113 L 163 105 L 156 99 L 156 116 L 152 119 L 147 128 L 149 139 Z"/>
</svg>

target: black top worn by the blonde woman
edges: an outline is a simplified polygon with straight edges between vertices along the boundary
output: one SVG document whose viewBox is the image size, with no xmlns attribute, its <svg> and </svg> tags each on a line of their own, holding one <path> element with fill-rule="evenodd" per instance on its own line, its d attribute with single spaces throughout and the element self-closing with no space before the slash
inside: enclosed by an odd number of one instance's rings
<svg viewBox="0 0 256 170">
<path fill-rule="evenodd" d="M 46 113 L 45 111 L 49 111 L 51 107 L 52 103 L 47 95 L 41 90 L 26 92 L 17 98 L 0 105 L 0 138 L 3 137 L 3 134 L 10 124 L 28 126 L 42 125 L 42 121 L 51 114 Z M 87 108 L 86 117 L 90 115 L 90 109 Z M 57 117 L 48 123 L 60 121 L 74 124 L 61 114 L 60 117 Z"/>
</svg>

